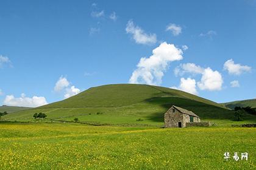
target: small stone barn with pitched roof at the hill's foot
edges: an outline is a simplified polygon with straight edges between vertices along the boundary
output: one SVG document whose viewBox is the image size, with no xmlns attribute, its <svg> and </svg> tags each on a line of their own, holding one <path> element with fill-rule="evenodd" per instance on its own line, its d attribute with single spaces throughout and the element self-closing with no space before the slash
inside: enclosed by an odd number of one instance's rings
<svg viewBox="0 0 256 170">
<path fill-rule="evenodd" d="M 186 127 L 190 122 L 200 122 L 199 116 L 181 107 L 172 106 L 165 113 L 165 127 Z"/>
</svg>

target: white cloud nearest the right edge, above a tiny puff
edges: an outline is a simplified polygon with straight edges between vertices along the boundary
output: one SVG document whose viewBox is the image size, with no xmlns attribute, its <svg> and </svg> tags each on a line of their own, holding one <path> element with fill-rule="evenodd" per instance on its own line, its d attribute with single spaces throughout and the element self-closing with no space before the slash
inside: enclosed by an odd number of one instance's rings
<svg viewBox="0 0 256 170">
<path fill-rule="evenodd" d="M 224 63 L 224 70 L 227 70 L 230 74 L 233 75 L 240 75 L 243 72 L 251 71 L 251 67 L 242 66 L 241 64 L 235 64 L 234 61 L 230 59 Z"/>
</svg>

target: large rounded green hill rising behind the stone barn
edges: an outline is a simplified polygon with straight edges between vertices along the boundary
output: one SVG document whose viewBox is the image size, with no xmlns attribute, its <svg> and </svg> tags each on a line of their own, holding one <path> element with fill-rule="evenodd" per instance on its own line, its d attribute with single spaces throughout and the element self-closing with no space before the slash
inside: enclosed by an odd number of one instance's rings
<svg viewBox="0 0 256 170">
<path fill-rule="evenodd" d="M 234 123 L 233 111 L 221 104 L 180 90 L 143 84 L 92 87 L 66 100 L 15 112 L 2 118 L 34 121 L 32 116 L 36 112 L 44 112 L 48 115 L 46 120 L 49 121 L 73 121 L 78 118 L 84 123 L 162 126 L 163 115 L 172 105 L 192 110 L 203 121 Z M 143 121 L 137 121 L 138 119 Z M 246 115 L 245 120 L 240 123 L 252 123 L 255 120 L 255 116 Z"/>
</svg>

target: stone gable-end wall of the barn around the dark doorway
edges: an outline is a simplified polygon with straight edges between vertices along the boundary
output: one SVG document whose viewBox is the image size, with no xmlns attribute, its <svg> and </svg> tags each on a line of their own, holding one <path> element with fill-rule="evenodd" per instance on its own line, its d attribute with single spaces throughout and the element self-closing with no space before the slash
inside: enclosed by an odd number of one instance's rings
<svg viewBox="0 0 256 170">
<path fill-rule="evenodd" d="M 178 123 L 183 122 L 183 114 L 180 113 L 177 109 L 175 109 L 174 112 L 172 112 L 172 107 L 165 113 L 165 127 L 178 127 Z"/>
</svg>

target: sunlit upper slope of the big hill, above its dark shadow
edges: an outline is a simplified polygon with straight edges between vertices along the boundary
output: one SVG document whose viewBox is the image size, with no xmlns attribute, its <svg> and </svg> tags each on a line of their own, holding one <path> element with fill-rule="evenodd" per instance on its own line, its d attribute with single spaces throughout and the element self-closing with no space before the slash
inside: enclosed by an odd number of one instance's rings
<svg viewBox="0 0 256 170">
<path fill-rule="evenodd" d="M 110 84 L 91 87 L 78 95 L 63 101 L 47 104 L 40 108 L 53 107 L 120 107 L 140 103 L 154 97 L 182 97 L 215 106 L 221 106 L 210 100 L 180 90 L 143 84 Z"/>
</svg>

